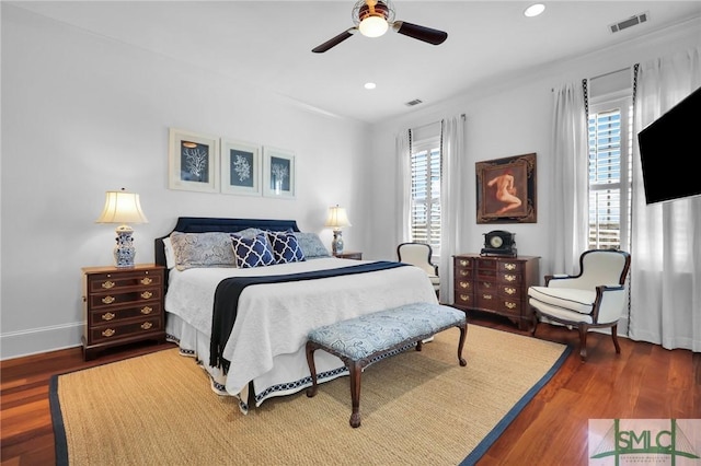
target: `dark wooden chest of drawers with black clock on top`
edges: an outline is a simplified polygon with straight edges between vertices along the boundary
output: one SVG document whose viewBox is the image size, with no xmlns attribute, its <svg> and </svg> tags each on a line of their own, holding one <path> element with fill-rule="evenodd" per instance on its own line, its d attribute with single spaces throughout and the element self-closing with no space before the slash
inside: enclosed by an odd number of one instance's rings
<svg viewBox="0 0 701 466">
<path fill-rule="evenodd" d="M 453 256 L 455 306 L 504 315 L 527 329 L 528 287 L 539 283 L 539 263 L 535 256 Z"/>
</svg>

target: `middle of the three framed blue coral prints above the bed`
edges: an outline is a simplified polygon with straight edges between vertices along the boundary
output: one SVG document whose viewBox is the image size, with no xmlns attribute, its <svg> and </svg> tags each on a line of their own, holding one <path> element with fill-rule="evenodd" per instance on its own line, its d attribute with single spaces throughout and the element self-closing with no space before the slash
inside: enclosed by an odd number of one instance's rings
<svg viewBox="0 0 701 466">
<path fill-rule="evenodd" d="M 221 193 L 261 196 L 261 150 L 257 145 L 221 139 Z"/>
</svg>

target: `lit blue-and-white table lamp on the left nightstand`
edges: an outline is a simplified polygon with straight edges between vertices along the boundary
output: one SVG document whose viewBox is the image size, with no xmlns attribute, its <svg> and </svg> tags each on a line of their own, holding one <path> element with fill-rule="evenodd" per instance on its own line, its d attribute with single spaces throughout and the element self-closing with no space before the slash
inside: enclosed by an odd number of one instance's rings
<svg viewBox="0 0 701 466">
<path fill-rule="evenodd" d="M 136 249 L 131 234 L 134 230 L 127 223 L 148 223 L 146 215 L 141 211 L 139 195 L 127 193 L 122 188 L 119 191 L 107 191 L 105 207 L 95 223 L 116 223 L 119 226 L 117 233 L 117 244 L 114 247 L 114 261 L 118 268 L 134 267 Z"/>
</svg>

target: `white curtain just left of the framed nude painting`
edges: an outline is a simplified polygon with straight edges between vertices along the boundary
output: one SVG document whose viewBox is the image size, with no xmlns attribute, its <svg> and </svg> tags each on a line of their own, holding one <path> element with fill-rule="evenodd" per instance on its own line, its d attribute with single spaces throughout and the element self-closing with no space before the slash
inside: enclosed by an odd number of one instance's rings
<svg viewBox="0 0 701 466">
<path fill-rule="evenodd" d="M 440 176 L 440 302 L 453 302 L 452 256 L 468 251 L 468 202 L 474 203 L 474 176 L 468 173 L 463 115 L 441 121 L 443 173 Z M 470 195 L 471 193 L 471 195 Z M 466 240 L 468 244 L 466 244 Z M 479 242 L 478 242 L 479 243 Z"/>
</svg>

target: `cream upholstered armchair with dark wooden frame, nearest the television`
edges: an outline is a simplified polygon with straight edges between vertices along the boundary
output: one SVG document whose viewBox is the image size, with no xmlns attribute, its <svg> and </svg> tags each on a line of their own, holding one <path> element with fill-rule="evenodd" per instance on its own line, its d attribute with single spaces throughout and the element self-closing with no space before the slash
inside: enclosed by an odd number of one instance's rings
<svg viewBox="0 0 701 466">
<path fill-rule="evenodd" d="M 625 277 L 631 265 L 629 253 L 616 249 L 591 249 L 579 256 L 579 275 L 545 276 L 544 287 L 528 289 L 528 303 L 533 311 L 531 335 L 542 317 L 577 328 L 579 357 L 587 359 L 587 331 L 611 329 L 616 352 L 618 322 L 627 302 Z"/>
</svg>

